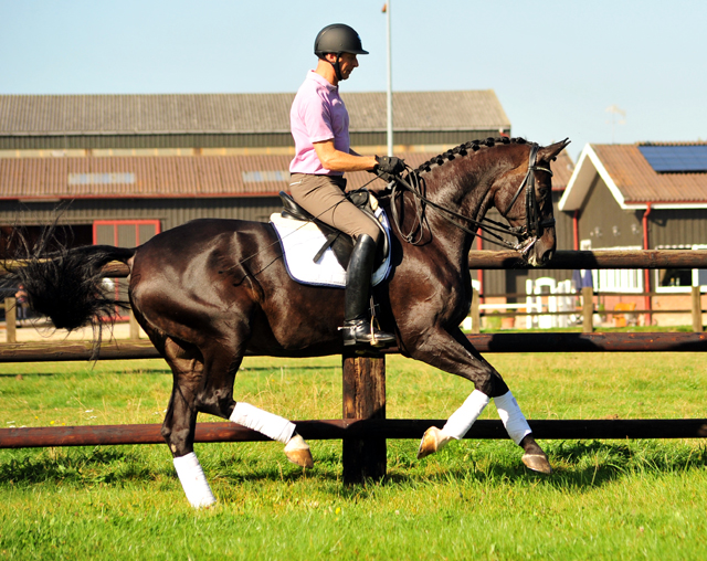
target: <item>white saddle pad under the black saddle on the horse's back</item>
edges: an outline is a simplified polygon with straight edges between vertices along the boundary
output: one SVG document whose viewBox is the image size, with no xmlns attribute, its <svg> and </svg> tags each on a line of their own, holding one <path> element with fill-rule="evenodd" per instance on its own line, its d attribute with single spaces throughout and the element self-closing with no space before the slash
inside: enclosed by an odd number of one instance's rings
<svg viewBox="0 0 707 561">
<path fill-rule="evenodd" d="M 391 264 L 390 254 L 392 253 L 388 216 L 382 209 L 376 211 L 376 216 L 386 230 L 386 237 L 388 237 L 388 245 L 391 251 L 388 252 L 382 265 L 373 271 L 371 275 L 371 284 L 373 286 L 388 278 Z M 339 265 L 331 247 L 324 252 L 318 262 L 314 262 L 314 256 L 326 242 L 326 236 L 316 224 L 286 219 L 279 213 L 272 214 L 270 223 L 273 224 L 275 232 L 277 232 L 285 254 L 287 273 L 294 280 L 315 286 L 341 288 L 346 286 L 346 271 Z"/>
</svg>

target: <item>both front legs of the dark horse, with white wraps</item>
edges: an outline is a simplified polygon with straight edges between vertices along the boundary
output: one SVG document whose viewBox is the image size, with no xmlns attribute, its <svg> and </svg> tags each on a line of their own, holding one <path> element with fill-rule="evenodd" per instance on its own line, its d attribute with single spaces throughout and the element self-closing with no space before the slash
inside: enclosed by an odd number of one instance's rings
<svg viewBox="0 0 707 561">
<path fill-rule="evenodd" d="M 442 449 L 452 440 L 463 438 L 493 399 L 508 436 L 525 451 L 523 463 L 535 472 L 552 472 L 547 455 L 535 441 L 532 431 L 508 385 L 460 329 L 449 332 L 439 328 L 425 332 L 418 340 L 411 356 L 441 370 L 466 378 L 474 382 L 476 388 L 441 430 L 436 426 L 428 428 L 420 443 L 419 458 Z"/>
</svg>

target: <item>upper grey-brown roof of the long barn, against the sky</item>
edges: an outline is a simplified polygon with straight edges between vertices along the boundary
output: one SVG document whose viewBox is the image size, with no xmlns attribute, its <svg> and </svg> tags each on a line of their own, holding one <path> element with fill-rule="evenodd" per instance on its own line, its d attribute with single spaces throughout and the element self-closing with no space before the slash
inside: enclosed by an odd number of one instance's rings
<svg viewBox="0 0 707 561">
<path fill-rule="evenodd" d="M 0 95 L 0 135 L 289 133 L 295 94 Z M 342 93 L 352 133 L 386 129 L 384 93 Z M 395 92 L 395 130 L 509 129 L 492 89 Z"/>
</svg>

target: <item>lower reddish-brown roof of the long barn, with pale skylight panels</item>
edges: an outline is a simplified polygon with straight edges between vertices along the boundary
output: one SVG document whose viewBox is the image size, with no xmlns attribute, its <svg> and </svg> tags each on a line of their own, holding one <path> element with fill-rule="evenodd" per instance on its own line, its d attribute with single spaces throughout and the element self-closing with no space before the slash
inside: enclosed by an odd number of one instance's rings
<svg viewBox="0 0 707 561">
<path fill-rule="evenodd" d="M 400 154 L 416 167 L 435 154 Z M 0 200 L 257 197 L 288 188 L 292 156 L 0 158 Z M 373 179 L 347 173 L 349 186 Z"/>
</svg>

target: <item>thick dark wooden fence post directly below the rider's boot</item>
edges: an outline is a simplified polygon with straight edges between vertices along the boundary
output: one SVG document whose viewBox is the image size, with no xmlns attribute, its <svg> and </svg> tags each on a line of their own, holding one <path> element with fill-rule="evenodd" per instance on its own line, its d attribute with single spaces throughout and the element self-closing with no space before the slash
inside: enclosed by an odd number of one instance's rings
<svg viewBox="0 0 707 561">
<path fill-rule="evenodd" d="M 386 358 L 344 354 L 344 419 L 386 419 Z M 346 485 L 386 476 L 386 438 L 344 438 Z"/>
</svg>

